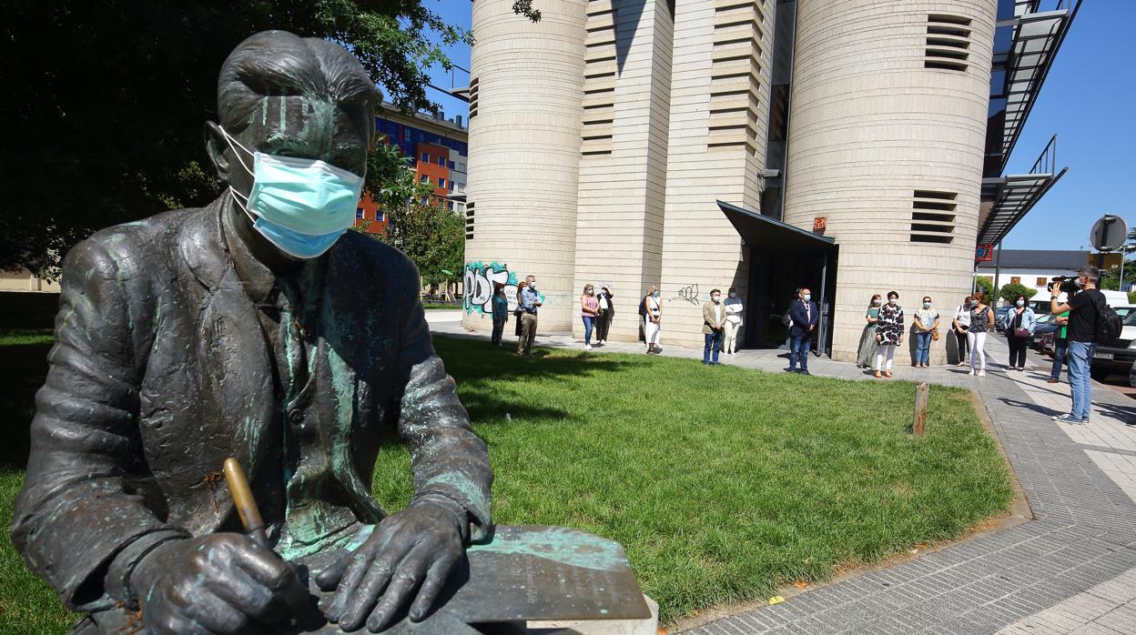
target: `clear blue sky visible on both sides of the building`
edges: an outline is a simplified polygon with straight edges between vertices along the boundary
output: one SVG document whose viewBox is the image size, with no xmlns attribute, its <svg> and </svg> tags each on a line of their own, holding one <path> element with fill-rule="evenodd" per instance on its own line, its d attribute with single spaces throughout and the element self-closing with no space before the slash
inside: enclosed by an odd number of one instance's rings
<svg viewBox="0 0 1136 635">
<path fill-rule="evenodd" d="M 469 27 L 473 2 L 425 0 L 451 24 Z M 1131 36 L 1136 1 L 1084 0 L 1058 53 L 1034 110 L 1026 122 L 1008 174 L 1029 172 L 1050 136 L 1058 135 L 1056 159 L 1069 172 L 1003 241 L 1006 249 L 1088 249 L 1088 231 L 1105 214 L 1136 224 L 1136 72 Z M 469 68 L 469 49 L 451 47 L 451 59 Z M 449 74 L 431 73 L 450 87 Z M 467 85 L 458 72 L 454 84 Z M 437 91 L 431 99 L 446 117 L 467 115 L 468 105 Z"/>
</svg>

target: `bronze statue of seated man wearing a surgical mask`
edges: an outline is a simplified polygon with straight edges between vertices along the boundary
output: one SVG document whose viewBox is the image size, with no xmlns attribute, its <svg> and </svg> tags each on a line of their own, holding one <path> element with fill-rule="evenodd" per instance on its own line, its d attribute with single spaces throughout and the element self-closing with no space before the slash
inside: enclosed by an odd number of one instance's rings
<svg viewBox="0 0 1136 635">
<path fill-rule="evenodd" d="M 343 557 L 315 577 L 328 620 L 421 620 L 491 530 L 485 444 L 434 352 L 418 273 L 346 231 L 381 99 L 334 43 L 252 35 L 206 124 L 225 192 L 67 254 L 11 535 L 87 613 L 77 630 L 141 611 L 151 633 L 277 632 L 312 604 L 290 562 L 331 550 Z M 394 429 L 414 498 L 387 516 L 370 486 Z M 265 545 L 234 512 L 228 457 Z"/>
</svg>

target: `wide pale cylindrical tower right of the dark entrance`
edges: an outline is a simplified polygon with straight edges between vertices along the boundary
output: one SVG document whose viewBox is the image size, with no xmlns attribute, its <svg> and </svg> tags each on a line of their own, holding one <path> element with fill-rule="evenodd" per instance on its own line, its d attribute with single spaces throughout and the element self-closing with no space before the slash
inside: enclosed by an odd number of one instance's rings
<svg viewBox="0 0 1136 635">
<path fill-rule="evenodd" d="M 871 294 L 899 292 L 908 329 L 930 295 L 945 335 L 970 290 L 995 9 L 797 1 L 784 219 L 836 239 L 834 359 L 855 358 Z"/>
</svg>

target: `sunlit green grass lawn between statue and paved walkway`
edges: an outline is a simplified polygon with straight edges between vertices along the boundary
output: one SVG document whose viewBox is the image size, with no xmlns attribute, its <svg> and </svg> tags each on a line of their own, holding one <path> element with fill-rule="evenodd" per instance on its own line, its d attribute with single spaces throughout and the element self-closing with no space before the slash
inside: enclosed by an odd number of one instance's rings
<svg viewBox="0 0 1136 635">
<path fill-rule="evenodd" d="M 960 536 L 1012 498 L 963 391 L 932 388 L 918 440 L 905 432 L 914 392 L 907 382 L 576 351 L 518 359 L 483 341 L 435 344 L 488 443 L 494 519 L 619 541 L 663 621 Z M 3 526 L 20 481 L 18 470 L 0 471 Z M 406 451 L 384 448 L 376 498 L 399 509 L 410 486 Z M 7 533 L 0 578 L 0 632 L 68 624 Z"/>
</svg>

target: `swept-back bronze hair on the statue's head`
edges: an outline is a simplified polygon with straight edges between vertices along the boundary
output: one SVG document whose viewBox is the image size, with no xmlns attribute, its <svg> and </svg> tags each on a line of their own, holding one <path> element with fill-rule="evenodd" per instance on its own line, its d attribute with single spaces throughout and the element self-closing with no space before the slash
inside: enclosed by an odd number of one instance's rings
<svg viewBox="0 0 1136 635">
<path fill-rule="evenodd" d="M 367 112 L 367 140 L 383 93 L 343 47 L 286 31 L 250 35 L 225 59 L 217 78 L 217 115 L 231 134 L 243 131 L 268 97 L 303 95 Z"/>
</svg>

